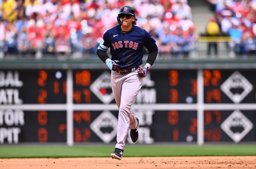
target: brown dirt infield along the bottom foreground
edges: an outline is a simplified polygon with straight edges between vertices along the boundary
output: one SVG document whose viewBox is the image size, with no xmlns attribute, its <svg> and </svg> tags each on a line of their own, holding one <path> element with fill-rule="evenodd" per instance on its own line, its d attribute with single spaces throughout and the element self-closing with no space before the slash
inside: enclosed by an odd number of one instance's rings
<svg viewBox="0 0 256 169">
<path fill-rule="evenodd" d="M 109 158 L 1 158 L 1 169 L 244 169 L 256 168 L 256 156 L 232 157 L 123 157 Z"/>
</svg>

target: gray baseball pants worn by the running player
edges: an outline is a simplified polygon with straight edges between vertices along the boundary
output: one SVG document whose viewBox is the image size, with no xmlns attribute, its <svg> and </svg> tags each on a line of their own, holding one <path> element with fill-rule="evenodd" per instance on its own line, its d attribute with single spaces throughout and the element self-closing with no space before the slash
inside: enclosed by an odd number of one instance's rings
<svg viewBox="0 0 256 169">
<path fill-rule="evenodd" d="M 111 71 L 112 91 L 119 109 L 115 148 L 124 150 L 129 127 L 136 129 L 138 125 L 131 108 L 133 101 L 140 92 L 142 81 L 143 78 L 138 75 L 137 70 L 126 75 Z"/>
</svg>

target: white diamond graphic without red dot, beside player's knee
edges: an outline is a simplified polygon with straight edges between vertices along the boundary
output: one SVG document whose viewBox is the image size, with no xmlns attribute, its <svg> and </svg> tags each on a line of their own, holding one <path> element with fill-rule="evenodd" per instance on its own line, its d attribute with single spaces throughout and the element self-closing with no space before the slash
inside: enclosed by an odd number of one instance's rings
<svg viewBox="0 0 256 169">
<path fill-rule="evenodd" d="M 116 136 L 117 122 L 111 112 L 104 111 L 90 124 L 90 128 L 104 143 L 109 143 Z"/>
</svg>

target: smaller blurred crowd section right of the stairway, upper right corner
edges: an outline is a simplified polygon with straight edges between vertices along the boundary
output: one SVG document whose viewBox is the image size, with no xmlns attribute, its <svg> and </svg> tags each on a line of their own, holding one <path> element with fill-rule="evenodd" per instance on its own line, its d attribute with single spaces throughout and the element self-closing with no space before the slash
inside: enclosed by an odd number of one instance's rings
<svg viewBox="0 0 256 169">
<path fill-rule="evenodd" d="M 207 0 L 215 13 L 220 35 L 235 43 L 228 48 L 236 54 L 256 53 L 256 0 Z M 214 20 L 214 19 L 212 19 Z"/>
</svg>

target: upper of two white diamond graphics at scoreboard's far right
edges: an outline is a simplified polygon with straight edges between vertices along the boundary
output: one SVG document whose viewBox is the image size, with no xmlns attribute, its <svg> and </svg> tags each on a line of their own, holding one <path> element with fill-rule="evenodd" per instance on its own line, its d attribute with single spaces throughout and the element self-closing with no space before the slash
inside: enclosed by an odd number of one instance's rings
<svg viewBox="0 0 256 169">
<path fill-rule="evenodd" d="M 238 71 L 235 71 L 220 86 L 220 89 L 234 102 L 240 103 L 252 91 L 252 84 Z"/>
</svg>

